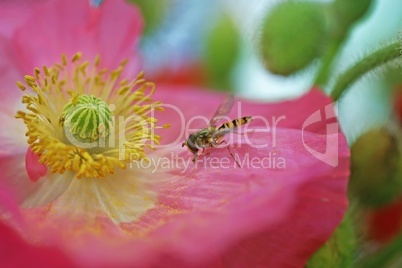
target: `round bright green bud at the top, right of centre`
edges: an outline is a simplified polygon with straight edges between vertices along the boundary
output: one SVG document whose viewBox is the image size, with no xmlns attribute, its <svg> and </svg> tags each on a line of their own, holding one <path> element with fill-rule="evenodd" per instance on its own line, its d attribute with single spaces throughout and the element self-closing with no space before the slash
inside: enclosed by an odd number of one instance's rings
<svg viewBox="0 0 402 268">
<path fill-rule="evenodd" d="M 326 31 L 321 4 L 280 3 L 262 24 L 260 53 L 264 65 L 270 72 L 285 76 L 303 69 L 320 55 Z"/>
</svg>

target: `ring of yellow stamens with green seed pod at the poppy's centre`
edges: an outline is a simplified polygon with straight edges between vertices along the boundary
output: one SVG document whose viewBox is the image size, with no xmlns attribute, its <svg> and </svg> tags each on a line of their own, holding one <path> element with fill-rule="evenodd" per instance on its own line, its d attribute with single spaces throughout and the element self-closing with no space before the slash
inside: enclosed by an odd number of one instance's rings
<svg viewBox="0 0 402 268">
<path fill-rule="evenodd" d="M 61 64 L 44 66 L 43 72 L 35 68 L 35 77 L 26 75 L 26 86 L 17 82 L 21 90 L 29 87 L 32 92 L 22 98 L 27 111 L 18 111 L 16 118 L 27 126 L 32 151 L 53 173 L 72 171 L 77 178 L 113 174 L 129 161 L 146 159 L 145 148 L 160 141 L 154 129 L 168 127 L 156 127 L 157 120 L 150 116 L 162 107 L 152 102 L 155 85 L 143 79 L 143 72 L 134 80 L 123 80 L 127 61 L 112 71 L 99 70 L 99 62 L 99 57 L 92 64 L 83 61 L 81 53 L 68 62 L 62 55 Z M 82 109 L 84 100 L 102 105 L 114 120 L 99 120 L 93 108 L 72 113 Z"/>
</svg>

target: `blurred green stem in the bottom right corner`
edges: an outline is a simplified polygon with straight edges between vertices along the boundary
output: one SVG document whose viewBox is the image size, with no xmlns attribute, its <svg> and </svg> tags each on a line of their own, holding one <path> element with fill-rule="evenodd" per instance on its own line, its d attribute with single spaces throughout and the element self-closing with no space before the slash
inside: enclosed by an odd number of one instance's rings
<svg viewBox="0 0 402 268">
<path fill-rule="evenodd" d="M 372 257 L 358 262 L 357 268 L 376 268 L 388 267 L 391 261 L 401 256 L 402 235 L 395 238 L 386 248 L 376 253 Z"/>
</svg>

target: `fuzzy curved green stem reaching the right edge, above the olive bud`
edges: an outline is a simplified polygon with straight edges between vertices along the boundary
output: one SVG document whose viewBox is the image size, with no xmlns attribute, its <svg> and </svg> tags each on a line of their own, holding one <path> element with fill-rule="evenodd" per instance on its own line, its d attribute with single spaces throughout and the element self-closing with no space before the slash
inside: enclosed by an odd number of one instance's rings
<svg viewBox="0 0 402 268">
<path fill-rule="evenodd" d="M 345 90 L 361 76 L 398 57 L 401 57 L 401 44 L 399 41 L 367 55 L 338 77 L 331 91 L 332 99 L 337 101 Z"/>
</svg>

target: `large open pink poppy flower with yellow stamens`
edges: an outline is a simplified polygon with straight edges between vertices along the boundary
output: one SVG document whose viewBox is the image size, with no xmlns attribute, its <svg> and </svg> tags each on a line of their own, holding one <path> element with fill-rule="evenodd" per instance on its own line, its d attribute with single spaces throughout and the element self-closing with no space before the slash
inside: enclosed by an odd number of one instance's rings
<svg viewBox="0 0 402 268">
<path fill-rule="evenodd" d="M 138 75 L 133 6 L 55 0 L 24 12 L 0 27 L 0 231 L 21 254 L 68 258 L 67 266 L 300 267 L 331 236 L 347 206 L 349 150 L 321 91 L 236 101 L 230 118 L 254 117 L 250 132 L 227 137 L 242 167 L 225 148 L 195 166 L 181 147 L 184 126 L 212 116 L 223 96 L 163 85 L 151 94 Z M 137 121 L 113 139 L 113 122 L 81 109 L 88 102 L 115 122 Z M 158 107 L 165 111 L 153 114 Z M 116 144 L 77 147 L 66 133 Z"/>
</svg>

